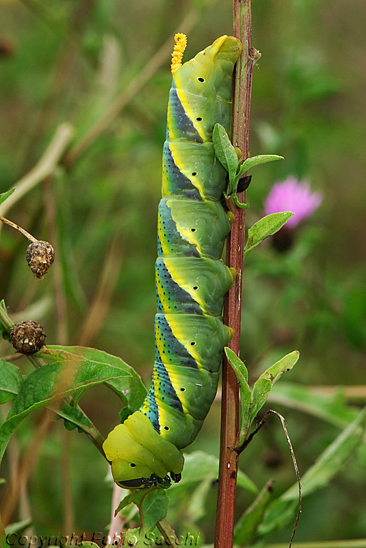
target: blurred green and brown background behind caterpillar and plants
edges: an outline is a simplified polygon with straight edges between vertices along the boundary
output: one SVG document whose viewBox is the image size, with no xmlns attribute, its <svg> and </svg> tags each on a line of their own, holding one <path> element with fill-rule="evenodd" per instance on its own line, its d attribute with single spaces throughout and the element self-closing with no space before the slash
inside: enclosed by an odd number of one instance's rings
<svg viewBox="0 0 366 548">
<path fill-rule="evenodd" d="M 186 60 L 231 34 L 231 2 L 0 0 L 0 12 L 1 192 L 38 162 L 60 123 L 75 126 L 73 153 L 116 98 L 123 103 L 77 158 L 66 156 L 53 177 L 8 212 L 51 241 L 59 261 L 43 282 L 32 278 L 25 238 L 3 227 L 0 296 L 14 320 L 40 321 L 47 343 L 114 353 L 148 384 L 169 48 L 151 77 L 138 83 L 177 30 L 188 34 Z M 298 349 L 300 362 L 284 381 L 330 387 L 324 393 L 357 385 L 340 393 L 352 406 L 366 399 L 365 15 L 364 0 L 252 2 L 253 45 L 262 56 L 253 73 L 250 153 L 280 154 L 285 161 L 253 171 L 248 226 L 262 216 L 272 184 L 289 175 L 308 179 L 324 201 L 298 227 L 291 249 L 280 253 L 266 240 L 248 256 L 241 357 L 254 380 Z M 131 83 L 137 87 L 129 97 Z M 2 347 L 3 356 L 12 353 L 8 343 Z M 90 390 L 81 403 L 102 434 L 118 423 L 118 399 L 107 388 Z M 279 400 L 270 405 L 285 414 L 304 472 L 339 428 Z M 37 414 L 18 430 L 18 449 L 27 447 L 36 421 Z M 218 398 L 188 452 L 218 455 L 219 425 Z M 3 476 L 11 464 L 4 461 Z M 366 537 L 365 464 L 360 448 L 330 486 L 304 499 L 298 541 Z M 273 477 L 278 493 L 294 482 L 274 419 L 241 466 L 259 487 Z M 111 514 L 107 468 L 81 434 L 65 434 L 55 423 L 27 489 L 37 534 L 64 527 L 103 531 Z M 207 543 L 215 489 L 199 525 Z M 252 498 L 238 491 L 238 516 Z M 285 542 L 291 527 L 268 540 Z"/>
</svg>

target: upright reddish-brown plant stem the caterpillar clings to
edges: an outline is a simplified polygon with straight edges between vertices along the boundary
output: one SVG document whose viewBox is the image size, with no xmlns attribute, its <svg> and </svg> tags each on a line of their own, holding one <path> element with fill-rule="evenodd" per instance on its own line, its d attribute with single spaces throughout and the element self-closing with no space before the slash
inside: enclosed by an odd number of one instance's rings
<svg viewBox="0 0 366 548">
<path fill-rule="evenodd" d="M 237 63 L 233 105 L 233 144 L 248 158 L 250 94 L 252 69 L 257 51 L 252 48 L 251 0 L 233 0 L 234 36 L 241 40 L 243 53 Z M 246 193 L 238 196 L 246 201 Z M 239 355 L 241 327 L 241 282 L 243 273 L 245 210 L 228 206 L 235 213 L 235 221 L 226 242 L 226 264 L 233 266 L 237 277 L 224 303 L 224 323 L 234 329 L 229 347 Z M 218 505 L 216 512 L 215 548 L 232 547 L 237 482 L 237 452 L 235 447 L 239 430 L 239 389 L 233 369 L 226 362 L 222 366 L 222 418 L 220 440 L 220 469 Z"/>
</svg>

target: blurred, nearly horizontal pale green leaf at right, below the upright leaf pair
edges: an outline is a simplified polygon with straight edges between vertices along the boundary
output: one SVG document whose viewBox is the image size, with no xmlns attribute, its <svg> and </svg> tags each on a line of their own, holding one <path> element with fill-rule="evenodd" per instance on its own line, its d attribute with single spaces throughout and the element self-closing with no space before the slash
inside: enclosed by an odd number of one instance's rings
<svg viewBox="0 0 366 548">
<path fill-rule="evenodd" d="M 311 386 L 280 382 L 271 390 L 268 401 L 309 413 L 340 428 L 352 423 L 358 415 L 358 408 L 345 405 L 341 386 L 337 394 L 326 394 L 315 392 Z"/>
</svg>

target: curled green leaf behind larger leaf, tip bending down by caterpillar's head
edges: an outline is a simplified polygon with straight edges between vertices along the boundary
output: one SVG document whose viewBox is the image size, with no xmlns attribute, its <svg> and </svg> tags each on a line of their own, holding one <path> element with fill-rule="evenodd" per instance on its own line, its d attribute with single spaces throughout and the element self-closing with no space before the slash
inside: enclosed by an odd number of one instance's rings
<svg viewBox="0 0 366 548">
<path fill-rule="evenodd" d="M 111 377 L 105 384 L 112 388 L 129 409 L 137 410 L 144 401 L 146 388 L 140 375 L 121 358 L 108 354 L 102 350 L 88 347 L 64 347 L 50 345 L 42 349 L 36 356 L 53 362 L 63 362 L 65 365 L 72 362 L 81 362 L 83 368 L 96 368 L 102 371 L 103 366 L 112 366 L 120 369 L 121 374 Z M 104 381 L 101 381 L 104 382 Z"/>
</svg>

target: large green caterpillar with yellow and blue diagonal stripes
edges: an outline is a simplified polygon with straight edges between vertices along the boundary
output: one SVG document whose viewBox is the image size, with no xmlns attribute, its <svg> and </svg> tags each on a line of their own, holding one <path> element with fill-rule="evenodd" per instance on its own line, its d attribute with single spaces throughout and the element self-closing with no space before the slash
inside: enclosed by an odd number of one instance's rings
<svg viewBox="0 0 366 548">
<path fill-rule="evenodd" d="M 212 132 L 215 123 L 230 130 L 241 44 L 221 36 L 181 65 L 186 39 L 175 40 L 158 212 L 153 380 L 140 410 L 103 444 L 115 482 L 128 489 L 170 482 L 168 473 L 174 482 L 181 479 L 180 449 L 205 420 L 222 349 L 233 336 L 221 316 L 235 278 L 221 260 L 233 219 L 222 206 L 226 174 Z"/>
</svg>

